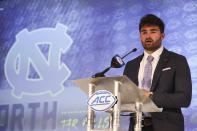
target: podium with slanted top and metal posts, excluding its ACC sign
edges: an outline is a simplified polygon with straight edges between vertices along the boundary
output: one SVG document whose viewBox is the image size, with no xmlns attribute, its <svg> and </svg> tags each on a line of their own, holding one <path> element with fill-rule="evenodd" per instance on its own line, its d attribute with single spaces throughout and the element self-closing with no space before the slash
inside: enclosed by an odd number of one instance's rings
<svg viewBox="0 0 197 131">
<path fill-rule="evenodd" d="M 90 98 L 99 90 L 111 92 L 117 102 L 106 112 L 110 113 L 108 130 L 94 130 L 94 111 L 88 106 L 87 131 L 119 131 L 120 113 L 136 113 L 135 131 L 142 129 L 142 112 L 161 112 L 153 101 L 147 97 L 127 76 L 98 77 L 72 80 Z"/>
</svg>

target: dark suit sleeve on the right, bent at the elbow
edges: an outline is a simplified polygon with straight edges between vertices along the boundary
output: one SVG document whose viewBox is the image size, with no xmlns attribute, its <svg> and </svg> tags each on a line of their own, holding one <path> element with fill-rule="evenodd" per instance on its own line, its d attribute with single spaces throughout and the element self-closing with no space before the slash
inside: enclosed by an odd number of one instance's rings
<svg viewBox="0 0 197 131">
<path fill-rule="evenodd" d="M 160 108 L 181 108 L 190 105 L 192 96 L 190 69 L 185 57 L 179 57 L 176 63 L 173 84 L 170 87 L 172 92 L 156 90 L 153 93 L 152 100 Z"/>
</svg>

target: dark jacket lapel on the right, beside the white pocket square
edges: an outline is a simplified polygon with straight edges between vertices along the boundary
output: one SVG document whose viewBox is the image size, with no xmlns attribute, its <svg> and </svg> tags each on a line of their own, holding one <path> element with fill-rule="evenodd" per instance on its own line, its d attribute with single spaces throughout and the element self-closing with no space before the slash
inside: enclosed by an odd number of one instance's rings
<svg viewBox="0 0 197 131">
<path fill-rule="evenodd" d="M 158 64 L 156 66 L 154 75 L 153 75 L 152 86 L 151 86 L 150 91 L 155 90 L 157 82 L 158 82 L 159 77 L 161 75 L 162 69 L 166 66 L 168 59 L 169 59 L 169 52 L 164 48 L 164 50 L 160 56 L 160 59 L 158 61 Z"/>
</svg>

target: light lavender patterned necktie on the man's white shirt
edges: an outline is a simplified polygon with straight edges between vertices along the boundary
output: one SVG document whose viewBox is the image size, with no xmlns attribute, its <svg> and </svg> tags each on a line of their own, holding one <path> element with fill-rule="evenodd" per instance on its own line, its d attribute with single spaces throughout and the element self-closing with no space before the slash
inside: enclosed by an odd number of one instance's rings
<svg viewBox="0 0 197 131">
<path fill-rule="evenodd" d="M 151 76 L 152 76 L 152 61 L 154 57 L 149 55 L 147 58 L 147 63 L 144 68 L 144 77 L 142 80 L 142 88 L 150 91 L 151 88 Z"/>
</svg>

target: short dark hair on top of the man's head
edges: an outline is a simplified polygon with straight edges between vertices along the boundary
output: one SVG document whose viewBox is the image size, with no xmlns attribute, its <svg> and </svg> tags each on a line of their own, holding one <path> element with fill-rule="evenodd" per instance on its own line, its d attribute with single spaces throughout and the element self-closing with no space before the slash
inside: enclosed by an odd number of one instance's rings
<svg viewBox="0 0 197 131">
<path fill-rule="evenodd" d="M 140 24 L 139 24 L 139 31 L 145 25 L 156 25 L 159 27 L 160 32 L 164 33 L 165 25 L 164 25 L 163 21 L 153 14 L 147 14 L 141 18 Z"/>
</svg>

